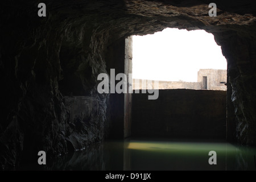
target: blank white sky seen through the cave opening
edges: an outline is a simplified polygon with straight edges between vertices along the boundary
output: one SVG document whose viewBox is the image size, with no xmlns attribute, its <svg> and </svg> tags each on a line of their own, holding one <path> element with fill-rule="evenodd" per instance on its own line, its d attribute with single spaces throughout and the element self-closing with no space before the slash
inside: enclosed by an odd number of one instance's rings
<svg viewBox="0 0 256 182">
<path fill-rule="evenodd" d="M 133 78 L 197 82 L 199 69 L 226 69 L 212 34 L 166 28 L 133 36 Z"/>
</svg>

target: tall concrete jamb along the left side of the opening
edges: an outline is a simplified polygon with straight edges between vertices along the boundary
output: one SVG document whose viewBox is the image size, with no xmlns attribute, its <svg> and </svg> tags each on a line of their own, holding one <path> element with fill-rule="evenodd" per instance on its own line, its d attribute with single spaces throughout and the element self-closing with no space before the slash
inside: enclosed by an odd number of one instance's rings
<svg viewBox="0 0 256 182">
<path fill-rule="evenodd" d="M 129 73 L 132 71 L 133 39 L 131 37 L 113 43 L 107 49 L 106 70 L 110 75 L 110 69 L 115 69 L 115 76 L 118 73 L 125 73 L 127 76 L 127 90 L 129 86 Z M 119 81 L 115 81 L 117 84 Z M 131 82 L 131 79 L 130 79 Z M 131 85 L 131 84 L 130 84 Z M 123 139 L 130 136 L 131 122 L 131 93 L 111 93 L 109 96 L 108 113 L 109 138 Z"/>
</svg>

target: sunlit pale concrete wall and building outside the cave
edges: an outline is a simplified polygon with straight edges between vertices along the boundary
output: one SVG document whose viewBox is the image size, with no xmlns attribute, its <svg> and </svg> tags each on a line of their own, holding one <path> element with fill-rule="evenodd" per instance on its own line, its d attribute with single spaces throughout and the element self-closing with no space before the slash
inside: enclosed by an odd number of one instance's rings
<svg viewBox="0 0 256 182">
<path fill-rule="evenodd" d="M 225 69 L 200 69 L 197 72 L 197 82 L 158 81 L 133 79 L 133 89 L 195 89 L 195 90 L 226 90 Z"/>
</svg>

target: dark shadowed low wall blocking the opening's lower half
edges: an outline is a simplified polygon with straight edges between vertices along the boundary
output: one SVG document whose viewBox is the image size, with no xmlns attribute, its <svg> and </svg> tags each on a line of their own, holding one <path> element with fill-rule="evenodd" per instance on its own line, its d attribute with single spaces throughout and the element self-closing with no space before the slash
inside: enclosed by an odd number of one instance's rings
<svg viewBox="0 0 256 182">
<path fill-rule="evenodd" d="M 133 94 L 131 137 L 226 137 L 226 92 L 159 90 L 157 100 Z"/>
</svg>

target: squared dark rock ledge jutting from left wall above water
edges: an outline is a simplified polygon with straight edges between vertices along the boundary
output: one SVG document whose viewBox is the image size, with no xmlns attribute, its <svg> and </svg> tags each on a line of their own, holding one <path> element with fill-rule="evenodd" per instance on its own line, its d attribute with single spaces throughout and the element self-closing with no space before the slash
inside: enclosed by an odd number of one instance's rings
<svg viewBox="0 0 256 182">
<path fill-rule="evenodd" d="M 104 138 L 106 121 L 105 102 L 95 97 L 64 97 L 68 110 L 68 130 L 62 133 L 67 141 L 68 151 L 81 150 L 92 142 L 100 142 Z M 65 133 L 67 131 L 67 133 Z"/>
</svg>

